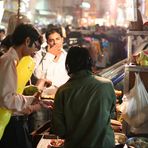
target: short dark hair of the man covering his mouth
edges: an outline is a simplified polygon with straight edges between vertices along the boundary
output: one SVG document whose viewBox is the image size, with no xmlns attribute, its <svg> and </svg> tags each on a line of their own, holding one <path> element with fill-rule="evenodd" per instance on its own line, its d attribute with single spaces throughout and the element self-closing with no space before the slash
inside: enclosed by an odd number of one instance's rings
<svg viewBox="0 0 148 148">
<path fill-rule="evenodd" d="M 47 28 L 47 31 L 45 33 L 46 40 L 48 40 L 48 36 L 49 35 L 51 35 L 51 34 L 53 34 L 55 32 L 57 32 L 58 34 L 60 34 L 61 37 L 63 37 L 61 27 L 58 27 L 58 26 L 54 26 L 53 25 L 53 26 Z"/>
</svg>

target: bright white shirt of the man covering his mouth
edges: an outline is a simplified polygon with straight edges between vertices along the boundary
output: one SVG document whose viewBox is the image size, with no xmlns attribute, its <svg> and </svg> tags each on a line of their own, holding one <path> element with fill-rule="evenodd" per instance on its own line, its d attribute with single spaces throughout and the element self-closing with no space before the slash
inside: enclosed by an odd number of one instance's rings
<svg viewBox="0 0 148 148">
<path fill-rule="evenodd" d="M 37 52 L 34 59 L 36 67 L 34 75 L 40 79 L 45 78 L 52 82 L 53 86 L 59 87 L 69 79 L 67 71 L 65 69 L 65 60 L 67 52 L 61 49 L 62 53 L 57 62 L 54 61 L 55 56 L 45 49 L 41 49 Z"/>
</svg>

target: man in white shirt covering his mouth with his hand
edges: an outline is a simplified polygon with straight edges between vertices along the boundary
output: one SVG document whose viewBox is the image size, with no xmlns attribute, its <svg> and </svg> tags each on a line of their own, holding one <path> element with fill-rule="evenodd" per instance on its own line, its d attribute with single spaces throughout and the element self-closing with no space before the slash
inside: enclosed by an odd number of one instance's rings
<svg viewBox="0 0 148 148">
<path fill-rule="evenodd" d="M 61 29 L 51 27 L 46 31 L 47 46 L 35 55 L 36 68 L 34 76 L 51 81 L 52 86 L 59 87 L 69 76 L 65 69 L 66 51 L 63 49 Z"/>
</svg>

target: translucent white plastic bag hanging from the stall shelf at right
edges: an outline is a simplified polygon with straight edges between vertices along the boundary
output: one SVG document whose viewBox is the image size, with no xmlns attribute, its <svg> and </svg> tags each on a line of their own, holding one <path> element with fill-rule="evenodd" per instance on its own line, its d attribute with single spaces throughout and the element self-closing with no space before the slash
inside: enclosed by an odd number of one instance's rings
<svg viewBox="0 0 148 148">
<path fill-rule="evenodd" d="M 147 120 L 148 92 L 140 75 L 135 73 L 135 85 L 129 94 L 123 96 L 120 111 L 124 120 L 132 127 L 138 128 Z"/>
</svg>

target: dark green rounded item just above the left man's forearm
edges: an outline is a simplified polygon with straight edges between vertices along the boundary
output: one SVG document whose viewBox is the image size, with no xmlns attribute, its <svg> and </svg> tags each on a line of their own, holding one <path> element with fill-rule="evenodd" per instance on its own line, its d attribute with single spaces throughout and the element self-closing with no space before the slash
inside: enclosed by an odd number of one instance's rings
<svg viewBox="0 0 148 148">
<path fill-rule="evenodd" d="M 23 94 L 24 95 L 34 95 L 36 92 L 39 92 L 39 89 L 34 85 L 28 85 L 25 87 Z"/>
</svg>

